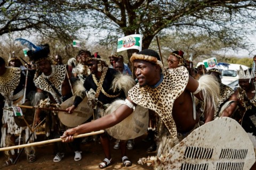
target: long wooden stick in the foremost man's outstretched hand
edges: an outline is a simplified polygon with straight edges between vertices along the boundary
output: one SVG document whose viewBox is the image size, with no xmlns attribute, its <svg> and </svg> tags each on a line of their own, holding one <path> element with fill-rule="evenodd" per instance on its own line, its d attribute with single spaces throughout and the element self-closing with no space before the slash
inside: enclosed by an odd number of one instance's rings
<svg viewBox="0 0 256 170">
<path fill-rule="evenodd" d="M 83 137 L 88 137 L 90 135 L 101 134 L 101 133 L 104 133 L 104 130 L 100 130 L 100 131 L 96 131 L 96 132 L 90 132 L 90 133 L 84 133 L 84 134 L 78 134 L 78 135 L 74 136 L 74 138 L 83 138 Z M 63 138 L 63 139 L 62 138 L 57 138 L 57 139 L 40 141 L 40 142 L 27 143 L 27 144 L 24 144 L 24 145 L 5 147 L 5 148 L 0 148 L 0 151 L 44 145 L 44 144 L 52 143 L 52 142 L 60 142 L 60 141 L 65 140 L 65 139 L 66 138 Z"/>
</svg>

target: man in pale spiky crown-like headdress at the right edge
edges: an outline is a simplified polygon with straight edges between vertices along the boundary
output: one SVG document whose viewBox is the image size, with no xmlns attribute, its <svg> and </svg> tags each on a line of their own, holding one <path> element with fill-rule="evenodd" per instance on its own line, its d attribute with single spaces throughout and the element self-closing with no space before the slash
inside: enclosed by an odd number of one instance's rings
<svg viewBox="0 0 256 170">
<path fill-rule="evenodd" d="M 246 73 L 245 73 L 246 72 Z M 234 118 L 242 125 L 256 148 L 256 82 L 254 74 L 249 69 L 244 71 L 240 66 L 238 71 L 239 87 L 230 96 L 230 104 L 220 113 L 220 116 Z M 251 169 L 256 169 L 254 163 Z"/>
</svg>

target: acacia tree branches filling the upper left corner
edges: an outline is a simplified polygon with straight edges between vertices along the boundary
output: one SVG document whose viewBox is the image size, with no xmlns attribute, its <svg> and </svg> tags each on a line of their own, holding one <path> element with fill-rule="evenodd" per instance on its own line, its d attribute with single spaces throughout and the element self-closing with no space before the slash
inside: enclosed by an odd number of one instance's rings
<svg viewBox="0 0 256 170">
<path fill-rule="evenodd" d="M 68 41 L 83 26 L 76 24 L 73 9 L 63 0 L 3 0 L 0 8 L 0 36 L 27 31 Z"/>
</svg>

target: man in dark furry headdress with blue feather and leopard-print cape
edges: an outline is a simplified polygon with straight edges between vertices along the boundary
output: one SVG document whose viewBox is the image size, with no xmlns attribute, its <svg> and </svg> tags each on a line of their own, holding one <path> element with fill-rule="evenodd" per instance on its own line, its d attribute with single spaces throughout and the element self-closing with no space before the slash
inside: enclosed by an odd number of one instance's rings
<svg viewBox="0 0 256 170">
<path fill-rule="evenodd" d="M 48 44 L 41 45 L 41 50 L 28 51 L 28 56 L 30 61 L 34 61 L 36 63 L 37 72 L 34 78 L 35 86 L 37 87 L 36 96 L 43 96 L 43 93 L 46 93 L 48 98 L 44 101 L 41 100 L 39 104 L 38 101 L 34 103 L 39 107 L 46 107 L 55 105 L 58 107 L 63 101 L 69 99 L 73 96 L 72 89 L 70 86 L 69 78 L 71 77 L 71 73 L 67 70 L 67 65 L 53 65 L 52 58 L 49 57 L 50 47 Z M 35 97 L 37 98 L 37 97 Z M 35 124 L 41 122 L 41 110 L 37 109 L 35 115 Z M 57 113 L 47 113 L 46 114 L 46 137 L 50 138 L 59 138 L 62 132 L 67 129 L 65 125 L 63 125 Z M 80 142 L 81 139 L 76 139 L 74 142 L 70 143 L 70 147 L 75 152 L 74 160 L 81 160 L 82 155 L 80 151 Z M 65 146 L 61 142 L 54 143 L 54 154 L 53 162 L 60 162 L 60 160 L 65 155 Z"/>
</svg>

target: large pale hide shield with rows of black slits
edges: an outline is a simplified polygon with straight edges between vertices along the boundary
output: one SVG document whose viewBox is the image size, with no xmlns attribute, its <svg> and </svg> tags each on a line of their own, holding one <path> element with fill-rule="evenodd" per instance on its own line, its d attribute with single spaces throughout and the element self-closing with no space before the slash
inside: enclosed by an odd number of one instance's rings
<svg viewBox="0 0 256 170">
<path fill-rule="evenodd" d="M 164 169 L 246 170 L 255 162 L 253 144 L 241 125 L 229 117 L 206 123 L 174 146 Z"/>
</svg>

